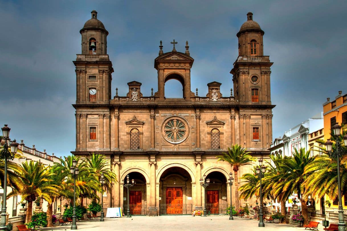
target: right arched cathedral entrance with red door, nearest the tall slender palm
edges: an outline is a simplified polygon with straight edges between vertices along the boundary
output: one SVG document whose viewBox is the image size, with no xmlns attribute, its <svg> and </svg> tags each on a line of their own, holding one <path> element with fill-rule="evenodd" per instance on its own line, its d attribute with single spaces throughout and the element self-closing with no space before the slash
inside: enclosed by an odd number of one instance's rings
<svg viewBox="0 0 347 231">
<path fill-rule="evenodd" d="M 206 176 L 210 185 L 206 187 L 206 212 L 210 214 L 227 213 L 227 179 L 220 172 L 211 172 Z"/>
</svg>

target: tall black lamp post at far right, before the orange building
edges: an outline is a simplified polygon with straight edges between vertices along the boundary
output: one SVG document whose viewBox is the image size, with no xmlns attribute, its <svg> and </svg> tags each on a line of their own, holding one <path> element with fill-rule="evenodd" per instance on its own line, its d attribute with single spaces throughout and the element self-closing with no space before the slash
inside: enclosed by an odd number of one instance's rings
<svg viewBox="0 0 347 231">
<path fill-rule="evenodd" d="M 344 231 L 345 230 L 345 222 L 344 222 L 344 210 L 342 209 L 342 198 L 341 198 L 341 179 L 340 179 L 340 157 L 343 153 L 344 150 L 341 147 L 340 140 L 338 136 L 340 135 L 340 130 L 341 126 L 339 124 L 336 124 L 332 127 L 332 131 L 335 134 L 336 140 L 335 140 L 335 150 L 332 151 L 332 142 L 328 140 L 325 142 L 325 146 L 327 148 L 328 154 L 330 158 L 336 158 L 337 160 L 337 184 L 338 184 L 338 197 L 339 197 L 339 231 Z M 347 147 L 347 135 L 344 136 L 344 143 L 345 146 Z"/>
</svg>

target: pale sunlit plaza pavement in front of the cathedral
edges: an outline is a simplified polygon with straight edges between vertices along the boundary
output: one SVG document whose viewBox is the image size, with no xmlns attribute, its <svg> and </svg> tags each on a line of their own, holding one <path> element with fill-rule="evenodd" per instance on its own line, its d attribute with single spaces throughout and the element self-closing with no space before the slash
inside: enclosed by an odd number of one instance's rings
<svg viewBox="0 0 347 231">
<path fill-rule="evenodd" d="M 234 220 L 229 220 L 229 216 L 189 216 L 189 215 L 171 215 L 171 216 L 133 216 L 130 218 L 105 218 L 104 222 L 100 222 L 99 218 L 93 220 L 78 221 L 77 229 L 81 231 L 113 231 L 113 230 L 137 230 L 137 231 L 304 231 L 303 227 L 298 227 L 291 224 L 274 224 L 266 223 L 265 227 L 258 227 L 259 221 L 249 218 L 235 217 Z M 318 226 L 319 230 L 323 230 L 322 224 Z M 71 224 L 63 226 L 46 227 L 41 230 L 70 230 Z M 14 227 L 14 230 L 17 230 Z"/>
</svg>

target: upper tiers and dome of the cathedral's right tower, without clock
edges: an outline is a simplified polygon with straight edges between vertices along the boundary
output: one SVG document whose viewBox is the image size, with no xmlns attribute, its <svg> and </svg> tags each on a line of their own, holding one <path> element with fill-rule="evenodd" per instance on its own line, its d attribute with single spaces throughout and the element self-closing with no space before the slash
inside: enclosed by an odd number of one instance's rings
<svg viewBox="0 0 347 231">
<path fill-rule="evenodd" d="M 238 37 L 239 56 L 233 75 L 235 99 L 240 104 L 271 104 L 270 62 L 263 55 L 263 35 L 260 25 L 253 21 L 253 14 L 247 13 L 247 21 L 242 24 Z"/>
</svg>

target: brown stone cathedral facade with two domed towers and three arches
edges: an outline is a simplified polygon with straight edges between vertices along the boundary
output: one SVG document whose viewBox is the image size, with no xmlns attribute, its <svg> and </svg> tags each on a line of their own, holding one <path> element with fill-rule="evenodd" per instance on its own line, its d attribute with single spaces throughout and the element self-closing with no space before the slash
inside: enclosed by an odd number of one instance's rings
<svg viewBox="0 0 347 231">
<path fill-rule="evenodd" d="M 232 144 L 242 145 L 256 158 L 266 157 L 272 141 L 272 63 L 263 55 L 264 31 L 253 21 L 253 14 L 247 14 L 237 33 L 239 54 L 230 71 L 232 84 L 226 83 L 234 94 L 231 90 L 230 96 L 223 96 L 218 79 L 207 83 L 206 96 L 199 96 L 197 89 L 192 92 L 194 59 L 188 42 L 186 50 L 179 52 L 174 40 L 167 53 L 160 43 L 154 59 L 158 91 L 143 96 L 141 82 L 132 81 L 126 95 L 116 91 L 111 96 L 108 31 L 97 12 L 91 13 L 80 31 L 82 54 L 74 61 L 76 150 L 72 153 L 83 157 L 99 153 L 109 160 L 118 182 L 104 195 L 104 208 L 126 211 L 129 202 L 131 214 L 191 214 L 205 202 L 210 213 L 226 213 L 230 190 L 234 197 L 234 186 L 240 180 L 230 187 L 232 166 L 215 157 Z M 165 87 L 169 87 L 165 83 L 171 79 L 181 83 L 182 98 L 165 97 Z M 239 177 L 250 169 L 241 167 Z M 129 188 L 129 201 L 124 187 L 127 176 L 136 182 Z M 210 179 L 206 189 L 200 184 L 204 177 Z"/>
</svg>

